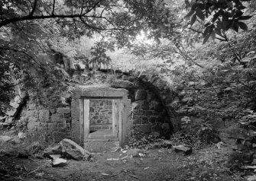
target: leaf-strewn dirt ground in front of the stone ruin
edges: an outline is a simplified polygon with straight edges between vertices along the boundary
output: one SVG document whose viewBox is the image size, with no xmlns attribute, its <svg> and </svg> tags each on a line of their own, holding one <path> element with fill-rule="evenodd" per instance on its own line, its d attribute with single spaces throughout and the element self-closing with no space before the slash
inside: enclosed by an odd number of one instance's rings
<svg viewBox="0 0 256 181">
<path fill-rule="evenodd" d="M 122 151 L 95 153 L 91 161 L 68 160 L 65 167 L 52 167 L 46 158 L 5 156 L 0 157 L 0 180 L 244 180 L 225 166 L 225 147 L 212 145 L 188 156 L 167 148 L 145 151 L 145 157 L 126 156 Z"/>
</svg>

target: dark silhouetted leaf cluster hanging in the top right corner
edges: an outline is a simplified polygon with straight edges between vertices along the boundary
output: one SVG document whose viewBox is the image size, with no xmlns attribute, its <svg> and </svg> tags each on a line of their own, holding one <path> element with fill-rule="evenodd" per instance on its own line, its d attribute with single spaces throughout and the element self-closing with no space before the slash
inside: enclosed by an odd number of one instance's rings
<svg viewBox="0 0 256 181">
<path fill-rule="evenodd" d="M 245 22 L 251 16 L 244 15 L 245 6 L 242 2 L 250 2 L 251 0 L 196 0 L 186 2 L 191 6 L 191 10 L 185 17 L 190 18 L 190 25 L 196 20 L 205 22 L 205 30 L 203 32 L 203 43 L 206 43 L 210 37 L 215 40 L 216 35 L 223 37 L 227 41 L 225 32 L 232 29 L 238 32 L 248 30 Z"/>
</svg>

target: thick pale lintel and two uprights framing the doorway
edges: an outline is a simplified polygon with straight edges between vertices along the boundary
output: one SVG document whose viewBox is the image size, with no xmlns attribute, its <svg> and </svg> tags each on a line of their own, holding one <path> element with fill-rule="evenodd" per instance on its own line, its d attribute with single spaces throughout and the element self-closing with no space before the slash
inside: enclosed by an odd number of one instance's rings
<svg viewBox="0 0 256 181">
<path fill-rule="evenodd" d="M 71 138 L 79 144 L 84 144 L 85 139 L 85 125 L 84 125 L 84 101 L 88 98 L 107 97 L 108 99 L 120 99 L 119 112 L 119 144 L 124 146 L 128 144 L 128 139 L 131 133 L 131 100 L 128 99 L 128 91 L 125 89 L 114 89 L 111 87 L 88 87 L 79 86 L 73 90 L 73 97 L 71 101 Z"/>
</svg>

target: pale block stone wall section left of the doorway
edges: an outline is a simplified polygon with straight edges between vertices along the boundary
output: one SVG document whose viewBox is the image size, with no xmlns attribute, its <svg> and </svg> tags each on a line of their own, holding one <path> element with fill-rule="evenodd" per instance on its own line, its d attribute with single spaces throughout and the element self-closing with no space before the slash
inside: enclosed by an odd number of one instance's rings
<svg viewBox="0 0 256 181">
<path fill-rule="evenodd" d="M 46 135 L 54 142 L 70 138 L 70 106 L 46 109 L 28 101 L 21 112 L 21 122 L 27 124 L 28 132 Z"/>
</svg>

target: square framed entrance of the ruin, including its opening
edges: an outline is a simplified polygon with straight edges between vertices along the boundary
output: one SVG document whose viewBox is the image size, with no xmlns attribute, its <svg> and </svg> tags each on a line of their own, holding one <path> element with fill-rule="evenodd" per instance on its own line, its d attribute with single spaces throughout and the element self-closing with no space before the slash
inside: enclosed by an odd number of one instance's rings
<svg viewBox="0 0 256 181">
<path fill-rule="evenodd" d="M 71 135 L 74 141 L 119 141 L 127 144 L 131 130 L 128 91 L 110 87 L 77 87 L 71 102 Z"/>
</svg>

